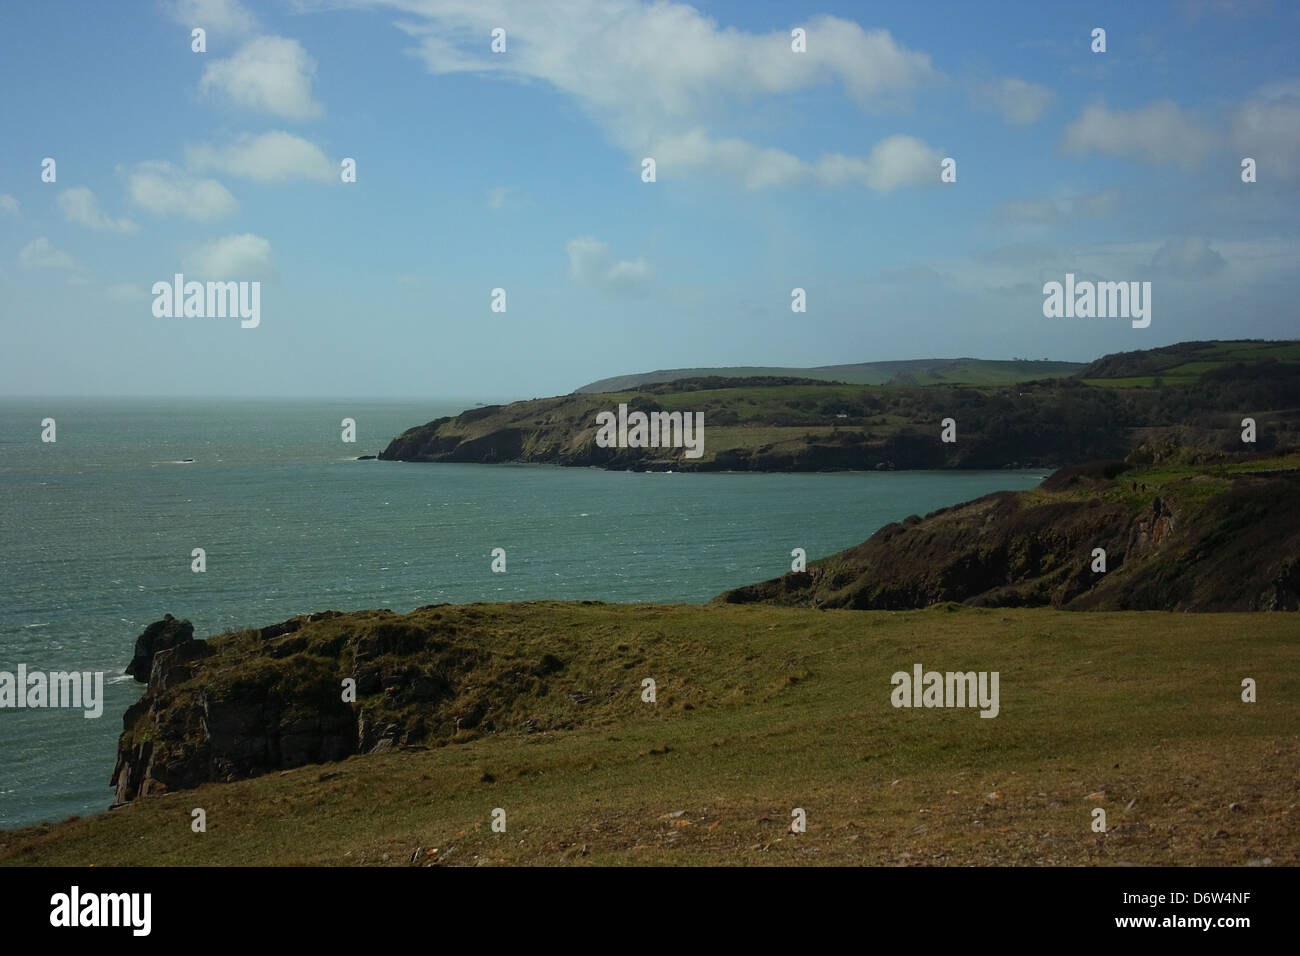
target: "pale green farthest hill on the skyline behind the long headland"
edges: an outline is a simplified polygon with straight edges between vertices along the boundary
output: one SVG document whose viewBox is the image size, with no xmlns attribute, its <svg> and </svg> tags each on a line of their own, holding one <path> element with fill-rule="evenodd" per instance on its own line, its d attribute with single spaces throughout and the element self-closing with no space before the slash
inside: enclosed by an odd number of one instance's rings
<svg viewBox="0 0 1300 956">
<path fill-rule="evenodd" d="M 794 377 L 844 382 L 845 385 L 1011 385 L 1037 378 L 1062 378 L 1075 375 L 1083 368 L 1084 363 L 1082 362 L 1048 362 L 1046 359 L 905 359 L 861 362 L 853 365 L 819 365 L 816 368 L 770 365 L 660 368 L 655 372 L 601 378 L 576 389 L 576 394 L 628 392 L 646 385 L 706 377 Z"/>
</svg>

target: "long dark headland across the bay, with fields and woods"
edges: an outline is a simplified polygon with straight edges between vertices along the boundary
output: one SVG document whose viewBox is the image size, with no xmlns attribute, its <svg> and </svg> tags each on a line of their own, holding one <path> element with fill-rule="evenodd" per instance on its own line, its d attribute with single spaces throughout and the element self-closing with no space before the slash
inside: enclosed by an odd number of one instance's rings
<svg viewBox="0 0 1300 956">
<path fill-rule="evenodd" d="M 1243 418 L 1256 420 L 1253 450 L 1275 451 L 1300 445 L 1300 360 L 1283 360 L 1294 351 L 1300 343 L 1192 342 L 1106 356 L 1087 367 L 1092 378 L 1011 385 L 677 378 L 473 408 L 407 429 L 380 458 L 632 471 L 1054 468 L 1143 446 L 1161 455 L 1178 446 L 1240 450 Z M 896 377 L 953 373 L 897 364 L 911 369 Z M 620 405 L 647 415 L 703 414 L 699 457 L 686 458 L 682 447 L 598 446 L 597 415 Z M 954 442 L 940 440 L 949 418 Z"/>
</svg>

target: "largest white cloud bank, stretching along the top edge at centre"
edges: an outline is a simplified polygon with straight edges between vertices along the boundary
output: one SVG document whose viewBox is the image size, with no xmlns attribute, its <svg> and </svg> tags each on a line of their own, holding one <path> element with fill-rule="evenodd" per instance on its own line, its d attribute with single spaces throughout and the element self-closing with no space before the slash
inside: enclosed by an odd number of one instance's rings
<svg viewBox="0 0 1300 956">
<path fill-rule="evenodd" d="M 829 16 L 800 23 L 807 31 L 807 52 L 793 53 L 788 29 L 724 30 L 681 3 L 516 4 L 508 16 L 500 4 L 477 0 L 387 5 L 428 21 L 399 26 L 420 39 L 416 52 L 430 73 L 497 72 L 520 81 L 543 79 L 592 109 L 624 120 L 642 108 L 663 118 L 696 120 L 719 99 L 829 82 L 862 103 L 879 103 L 939 78 L 927 55 L 898 46 L 887 30 L 863 30 Z M 508 23 L 508 57 L 491 53 L 482 40 L 502 23 Z"/>
</svg>

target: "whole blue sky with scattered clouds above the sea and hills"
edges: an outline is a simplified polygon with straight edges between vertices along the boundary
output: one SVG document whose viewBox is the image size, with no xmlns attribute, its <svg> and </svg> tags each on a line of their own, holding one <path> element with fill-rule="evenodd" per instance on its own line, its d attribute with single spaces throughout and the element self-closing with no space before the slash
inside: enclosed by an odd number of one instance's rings
<svg viewBox="0 0 1300 956">
<path fill-rule="evenodd" d="M 0 394 L 488 401 L 654 368 L 1296 337 L 1300 5 L 1280 0 L 5 16 Z M 260 325 L 155 317 L 177 272 L 260 281 Z M 1149 328 L 1044 317 L 1066 272 L 1150 281 Z"/>
</svg>

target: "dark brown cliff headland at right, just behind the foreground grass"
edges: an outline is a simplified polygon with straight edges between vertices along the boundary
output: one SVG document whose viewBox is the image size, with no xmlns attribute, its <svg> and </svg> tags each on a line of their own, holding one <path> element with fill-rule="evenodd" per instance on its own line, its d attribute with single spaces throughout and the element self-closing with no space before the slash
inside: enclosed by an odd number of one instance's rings
<svg viewBox="0 0 1300 956">
<path fill-rule="evenodd" d="M 957 601 L 1067 610 L 1300 609 L 1300 479 L 1119 462 L 1066 468 L 889 524 L 863 544 L 719 596 L 728 604 L 901 610 Z M 1093 549 L 1105 550 L 1104 572 Z"/>
</svg>

